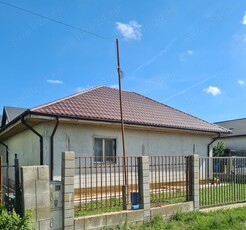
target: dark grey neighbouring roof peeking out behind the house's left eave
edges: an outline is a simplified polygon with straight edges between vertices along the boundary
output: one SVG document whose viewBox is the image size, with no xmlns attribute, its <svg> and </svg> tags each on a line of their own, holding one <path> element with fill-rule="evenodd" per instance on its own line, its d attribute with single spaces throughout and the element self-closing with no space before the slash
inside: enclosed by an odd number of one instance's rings
<svg viewBox="0 0 246 230">
<path fill-rule="evenodd" d="M 9 122 L 13 121 L 16 117 L 18 117 L 20 114 L 22 114 L 26 110 L 27 109 L 25 109 L 25 108 L 4 106 L 3 115 L 2 115 L 2 119 L 1 119 L 1 127 L 5 126 Z"/>
</svg>

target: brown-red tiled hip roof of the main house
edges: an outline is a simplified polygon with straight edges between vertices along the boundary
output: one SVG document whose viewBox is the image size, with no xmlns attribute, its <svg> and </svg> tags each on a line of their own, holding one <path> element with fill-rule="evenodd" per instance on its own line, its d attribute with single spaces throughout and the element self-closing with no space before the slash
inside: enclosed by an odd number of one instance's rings
<svg viewBox="0 0 246 230">
<path fill-rule="evenodd" d="M 227 133 L 228 130 L 140 94 L 122 91 L 126 124 Z M 101 86 L 31 109 L 98 121 L 120 122 L 119 91 Z"/>
</svg>

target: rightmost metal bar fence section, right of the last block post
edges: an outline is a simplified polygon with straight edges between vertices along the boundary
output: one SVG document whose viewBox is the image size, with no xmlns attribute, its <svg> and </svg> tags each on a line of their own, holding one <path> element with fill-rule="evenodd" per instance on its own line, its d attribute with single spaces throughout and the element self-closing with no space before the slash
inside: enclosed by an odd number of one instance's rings
<svg viewBox="0 0 246 230">
<path fill-rule="evenodd" d="M 246 158 L 200 158 L 200 207 L 246 201 Z"/>
</svg>

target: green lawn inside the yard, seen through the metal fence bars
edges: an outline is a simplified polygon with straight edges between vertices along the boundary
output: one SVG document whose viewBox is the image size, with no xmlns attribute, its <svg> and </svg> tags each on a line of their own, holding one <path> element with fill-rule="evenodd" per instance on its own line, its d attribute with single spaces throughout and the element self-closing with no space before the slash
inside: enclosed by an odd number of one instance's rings
<svg viewBox="0 0 246 230">
<path fill-rule="evenodd" d="M 236 192 L 235 192 L 236 191 Z M 152 206 L 180 203 L 186 201 L 184 191 L 151 193 L 150 203 Z M 246 184 L 225 183 L 220 186 L 213 185 L 200 189 L 200 207 L 230 204 L 246 201 Z M 99 199 L 87 201 L 75 207 L 75 216 L 86 216 L 106 212 L 123 210 L 122 198 Z"/>
</svg>

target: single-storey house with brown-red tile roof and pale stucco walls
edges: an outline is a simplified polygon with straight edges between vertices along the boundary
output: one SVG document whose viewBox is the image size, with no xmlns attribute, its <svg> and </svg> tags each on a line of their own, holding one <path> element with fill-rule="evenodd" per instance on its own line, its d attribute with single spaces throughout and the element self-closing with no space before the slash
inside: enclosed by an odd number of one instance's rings
<svg viewBox="0 0 246 230">
<path fill-rule="evenodd" d="M 229 130 L 154 101 L 122 91 L 127 156 L 210 154 L 218 134 Z M 122 156 L 119 91 L 101 86 L 11 117 L 4 108 L 0 141 L 20 165 L 47 164 L 51 180 L 60 176 L 61 153 Z M 17 110 L 15 110 L 17 111 Z M 5 146 L 1 155 L 5 157 Z"/>
</svg>

